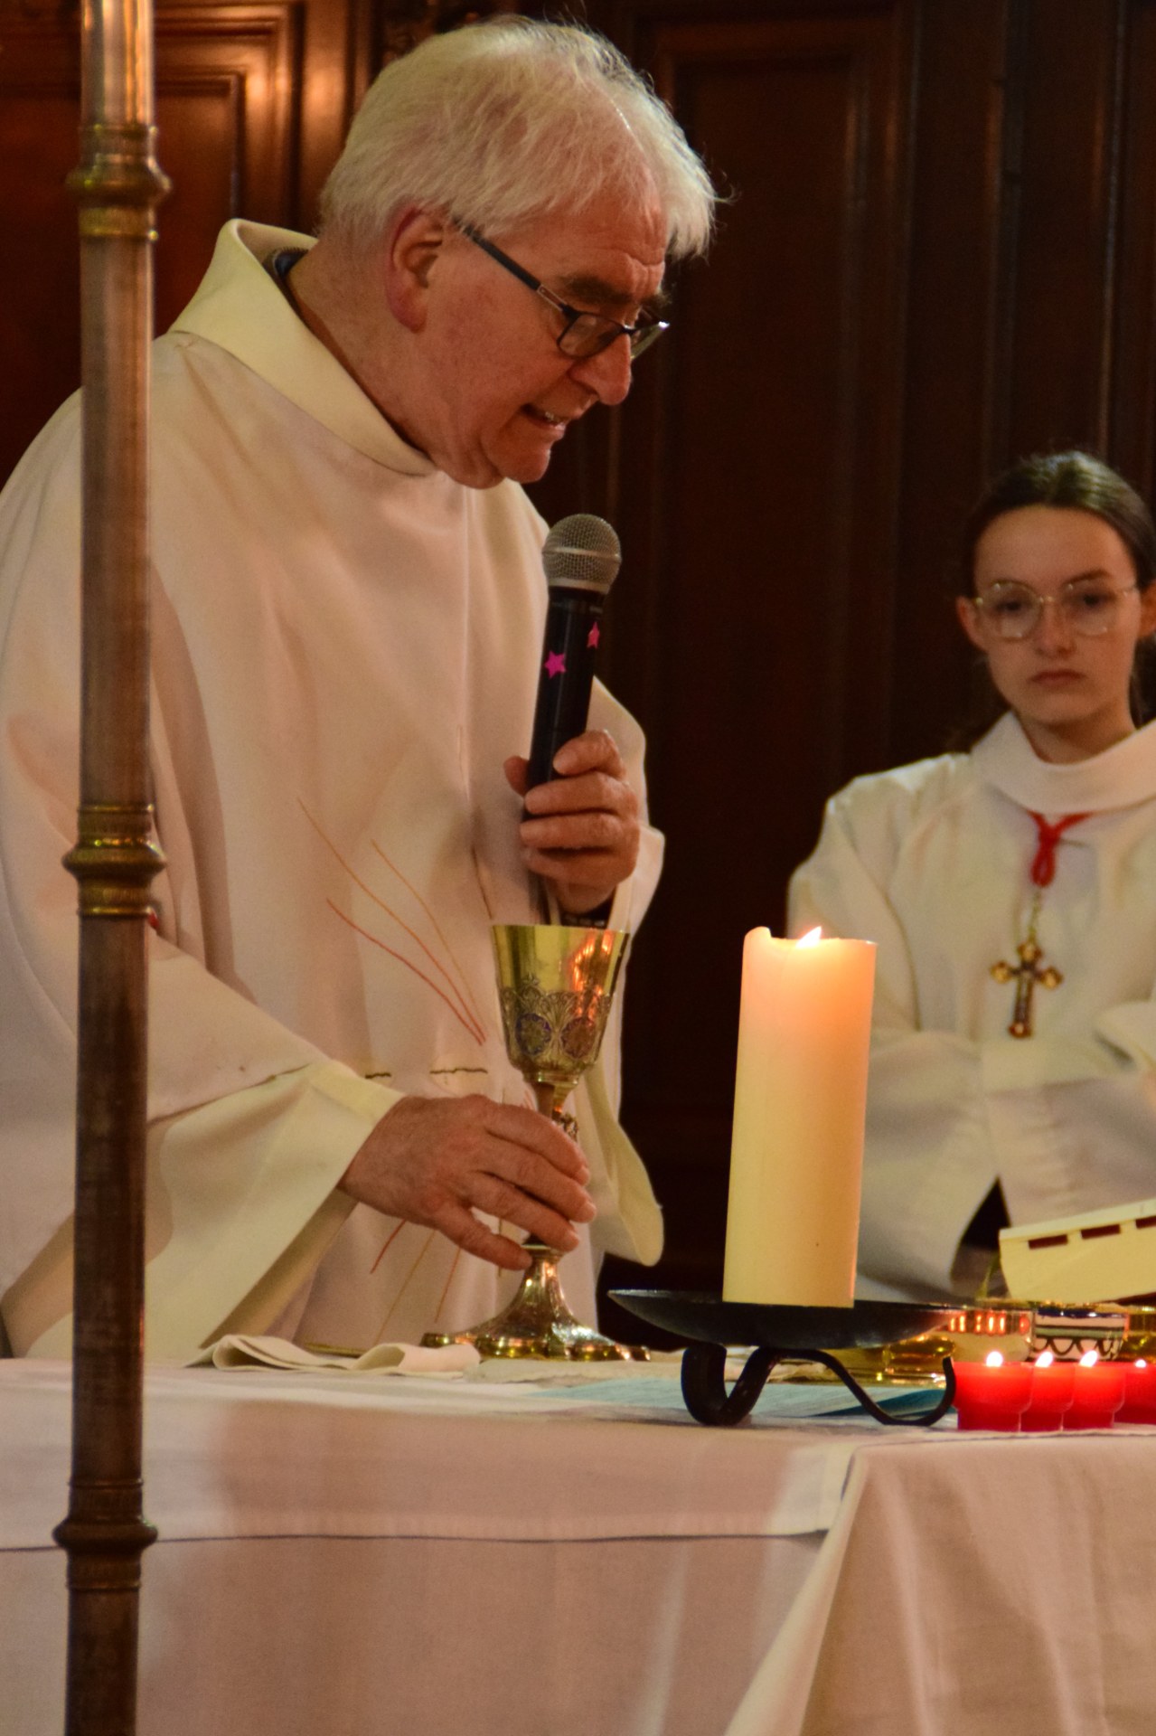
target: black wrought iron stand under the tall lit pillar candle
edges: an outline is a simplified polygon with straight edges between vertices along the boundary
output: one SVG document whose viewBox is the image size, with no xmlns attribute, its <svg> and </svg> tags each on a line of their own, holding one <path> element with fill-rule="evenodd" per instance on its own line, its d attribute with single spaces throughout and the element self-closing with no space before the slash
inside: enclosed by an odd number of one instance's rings
<svg viewBox="0 0 1156 1736">
<path fill-rule="evenodd" d="M 833 1351 L 877 1349 L 925 1332 L 948 1332 L 958 1304 L 856 1302 L 852 1307 L 767 1307 L 724 1302 L 720 1297 L 679 1290 L 613 1290 L 632 1314 L 693 1342 L 682 1354 L 682 1397 L 696 1422 L 734 1427 L 750 1417 L 771 1370 L 783 1359 L 821 1363 L 838 1375 L 877 1422 L 927 1427 L 951 1410 L 955 1370 L 943 1358 L 944 1391 L 916 1417 L 896 1417 L 877 1404 Z M 823 1344 L 826 1349 L 816 1351 Z M 727 1392 L 727 1345 L 753 1345 Z"/>
</svg>

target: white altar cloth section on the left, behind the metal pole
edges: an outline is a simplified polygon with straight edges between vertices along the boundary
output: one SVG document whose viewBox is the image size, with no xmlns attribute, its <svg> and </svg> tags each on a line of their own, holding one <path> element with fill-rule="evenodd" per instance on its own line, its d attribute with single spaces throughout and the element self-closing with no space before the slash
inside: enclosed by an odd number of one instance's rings
<svg viewBox="0 0 1156 1736">
<path fill-rule="evenodd" d="M 722 1731 L 854 1434 L 729 1436 L 675 1378 L 665 1408 L 611 1385 L 149 1370 L 141 1736 Z M 62 1727 L 66 1484 L 68 1368 L 0 1363 L 19 1736 Z"/>
</svg>

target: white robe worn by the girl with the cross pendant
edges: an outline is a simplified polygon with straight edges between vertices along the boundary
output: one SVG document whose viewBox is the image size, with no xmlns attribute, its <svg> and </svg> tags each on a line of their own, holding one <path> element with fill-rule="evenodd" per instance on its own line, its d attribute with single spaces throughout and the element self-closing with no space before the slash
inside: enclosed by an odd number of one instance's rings
<svg viewBox="0 0 1156 1736">
<path fill-rule="evenodd" d="M 1087 812 L 1043 891 L 1034 1035 L 1008 1035 L 1033 812 Z M 795 873 L 790 929 L 878 944 L 861 1295 L 944 1295 L 993 1182 L 1012 1222 L 1156 1194 L 1156 724 L 1073 766 L 1008 713 L 970 753 L 857 778 Z"/>
</svg>

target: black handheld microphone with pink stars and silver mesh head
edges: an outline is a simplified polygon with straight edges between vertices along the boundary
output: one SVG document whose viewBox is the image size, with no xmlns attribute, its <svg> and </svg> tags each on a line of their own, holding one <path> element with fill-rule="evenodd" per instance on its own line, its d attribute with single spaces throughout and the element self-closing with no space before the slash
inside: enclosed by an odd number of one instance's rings
<svg viewBox="0 0 1156 1736">
<path fill-rule="evenodd" d="M 557 778 L 554 755 L 587 727 L 602 606 L 621 566 L 606 519 L 575 512 L 559 519 L 542 549 L 550 590 L 526 788 Z"/>
</svg>

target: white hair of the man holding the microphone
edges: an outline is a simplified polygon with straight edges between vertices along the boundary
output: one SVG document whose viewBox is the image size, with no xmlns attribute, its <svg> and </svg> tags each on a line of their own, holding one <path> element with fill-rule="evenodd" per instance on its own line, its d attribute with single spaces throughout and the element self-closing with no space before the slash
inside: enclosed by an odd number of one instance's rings
<svg viewBox="0 0 1156 1736">
<path fill-rule="evenodd" d="M 378 73 L 321 222 L 365 248 L 413 203 L 502 234 L 606 193 L 658 203 L 673 259 L 705 250 L 715 193 L 651 85 L 594 31 L 507 14 L 430 36 Z"/>
</svg>

